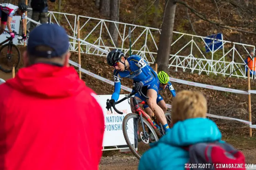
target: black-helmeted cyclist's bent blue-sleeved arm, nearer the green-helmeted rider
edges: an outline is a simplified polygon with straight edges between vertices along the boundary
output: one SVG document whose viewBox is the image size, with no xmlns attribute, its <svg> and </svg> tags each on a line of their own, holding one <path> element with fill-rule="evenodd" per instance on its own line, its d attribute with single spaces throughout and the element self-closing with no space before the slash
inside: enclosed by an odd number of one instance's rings
<svg viewBox="0 0 256 170">
<path fill-rule="evenodd" d="M 150 69 L 148 68 L 149 66 L 145 63 L 145 61 L 139 57 L 139 56 L 133 56 L 134 59 L 130 60 L 134 63 L 137 64 L 137 66 L 141 69 L 143 74 L 147 75 L 147 78 L 144 81 L 141 81 L 143 86 L 146 86 L 150 83 L 152 83 L 155 80 L 155 77 L 151 73 Z"/>
</svg>

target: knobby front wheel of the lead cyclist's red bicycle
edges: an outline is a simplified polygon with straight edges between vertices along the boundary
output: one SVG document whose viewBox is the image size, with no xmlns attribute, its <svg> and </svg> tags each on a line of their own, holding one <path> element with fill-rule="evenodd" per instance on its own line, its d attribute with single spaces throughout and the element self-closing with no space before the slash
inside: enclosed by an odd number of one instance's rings
<svg viewBox="0 0 256 170">
<path fill-rule="evenodd" d="M 149 136 L 148 138 L 143 137 L 142 124 L 138 114 L 129 113 L 123 120 L 123 133 L 125 141 L 133 155 L 138 159 L 141 158 L 141 155 L 145 151 L 150 149 L 150 143 L 158 141 L 154 128 L 144 118 L 143 125 L 146 133 Z"/>
</svg>

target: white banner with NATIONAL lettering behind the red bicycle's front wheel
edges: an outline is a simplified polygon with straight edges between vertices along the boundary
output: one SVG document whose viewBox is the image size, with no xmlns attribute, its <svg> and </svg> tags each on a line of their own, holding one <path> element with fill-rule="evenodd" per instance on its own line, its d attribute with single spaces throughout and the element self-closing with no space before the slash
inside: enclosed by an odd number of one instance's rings
<svg viewBox="0 0 256 170">
<path fill-rule="evenodd" d="M 119 100 L 124 97 L 125 95 L 120 95 Z M 123 120 L 128 113 L 131 113 L 131 107 L 128 103 L 128 100 L 125 100 L 116 105 L 118 111 L 124 113 L 123 115 L 120 115 L 114 111 L 113 107 L 113 113 L 111 113 L 110 110 L 108 111 L 108 109 L 106 109 L 106 101 L 107 99 L 111 99 L 111 95 L 97 95 L 96 99 L 99 102 L 104 113 L 105 132 L 103 137 L 103 147 L 127 145 L 123 134 Z M 129 120 L 129 125 L 129 131 L 134 132 L 133 119 Z M 134 133 L 128 133 L 128 137 L 131 143 L 134 144 Z"/>
</svg>

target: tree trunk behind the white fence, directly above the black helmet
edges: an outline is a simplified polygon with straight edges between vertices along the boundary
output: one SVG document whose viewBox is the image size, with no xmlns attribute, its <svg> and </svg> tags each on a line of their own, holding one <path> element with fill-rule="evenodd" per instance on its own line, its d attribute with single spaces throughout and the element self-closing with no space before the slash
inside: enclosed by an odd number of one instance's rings
<svg viewBox="0 0 256 170">
<path fill-rule="evenodd" d="M 119 21 L 119 0 L 111 0 L 110 2 L 110 19 L 112 21 Z M 118 47 L 118 29 L 116 28 L 116 26 L 118 28 L 118 24 L 114 23 L 114 22 L 110 22 L 109 24 L 109 33 L 114 41 L 114 44 L 116 47 Z"/>
</svg>

